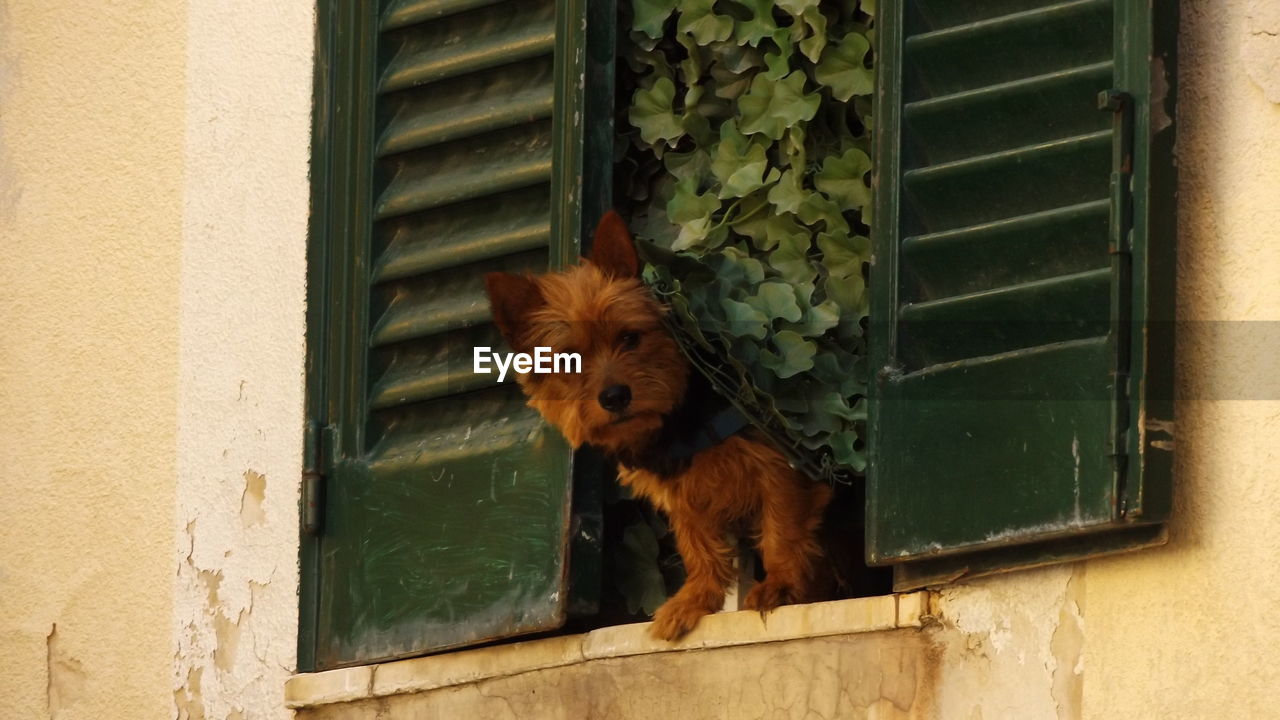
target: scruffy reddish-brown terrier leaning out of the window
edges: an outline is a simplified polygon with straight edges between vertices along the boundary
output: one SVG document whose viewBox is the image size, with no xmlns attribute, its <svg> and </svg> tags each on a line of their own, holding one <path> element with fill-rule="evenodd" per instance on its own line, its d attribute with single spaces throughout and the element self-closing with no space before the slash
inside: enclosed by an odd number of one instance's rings
<svg viewBox="0 0 1280 720">
<path fill-rule="evenodd" d="M 817 530 L 831 488 L 800 475 L 754 430 L 689 445 L 712 409 L 727 404 L 692 372 L 639 272 L 626 224 L 609 211 L 589 260 L 538 277 L 485 277 L 494 322 L 513 351 L 582 357 L 581 374 L 520 374 L 529 405 L 575 448 L 588 443 L 617 460 L 620 482 L 669 518 L 686 580 L 654 614 L 655 637 L 678 638 L 721 609 L 735 578 L 727 539 L 735 530 L 755 539 L 765 570 L 748 609 L 814 600 Z"/>
</svg>

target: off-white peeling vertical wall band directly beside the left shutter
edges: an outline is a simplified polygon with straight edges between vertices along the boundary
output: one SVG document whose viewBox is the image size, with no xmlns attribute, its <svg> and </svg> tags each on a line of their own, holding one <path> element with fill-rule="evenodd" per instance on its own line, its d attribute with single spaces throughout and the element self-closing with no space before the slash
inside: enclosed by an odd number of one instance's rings
<svg viewBox="0 0 1280 720">
<path fill-rule="evenodd" d="M 168 687 L 179 720 L 288 717 L 314 8 L 188 8 Z"/>
</svg>

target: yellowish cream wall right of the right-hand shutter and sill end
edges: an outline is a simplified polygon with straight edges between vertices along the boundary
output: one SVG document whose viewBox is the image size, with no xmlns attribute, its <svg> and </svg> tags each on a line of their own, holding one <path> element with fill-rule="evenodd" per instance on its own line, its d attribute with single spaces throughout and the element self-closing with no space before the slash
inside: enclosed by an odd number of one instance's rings
<svg viewBox="0 0 1280 720">
<path fill-rule="evenodd" d="M 940 717 L 1276 716 L 1280 12 L 1181 10 L 1169 546 L 945 589 Z"/>
</svg>

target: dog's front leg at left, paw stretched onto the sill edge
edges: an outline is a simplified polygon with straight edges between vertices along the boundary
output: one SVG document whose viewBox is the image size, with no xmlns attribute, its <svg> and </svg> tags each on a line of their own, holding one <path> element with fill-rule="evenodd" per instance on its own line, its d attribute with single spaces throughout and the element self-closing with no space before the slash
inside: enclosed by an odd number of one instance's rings
<svg viewBox="0 0 1280 720">
<path fill-rule="evenodd" d="M 671 515 L 676 548 L 685 561 L 685 584 L 653 615 L 650 633 L 673 641 L 694 629 L 703 615 L 724 603 L 724 591 L 733 579 L 733 547 L 724 528 L 705 518 Z"/>
</svg>

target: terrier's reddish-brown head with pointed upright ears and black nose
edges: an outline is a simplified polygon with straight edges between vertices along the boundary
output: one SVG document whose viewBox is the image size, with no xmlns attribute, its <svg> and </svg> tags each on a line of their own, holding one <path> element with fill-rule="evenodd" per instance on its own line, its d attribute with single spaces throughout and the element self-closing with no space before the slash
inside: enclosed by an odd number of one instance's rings
<svg viewBox="0 0 1280 720">
<path fill-rule="evenodd" d="M 626 224 L 609 211 L 584 263 L 545 275 L 485 277 L 494 322 L 513 351 L 581 356 L 581 373 L 517 375 L 529 405 L 573 447 L 640 447 L 685 395 L 689 364 L 639 270 Z"/>
</svg>

